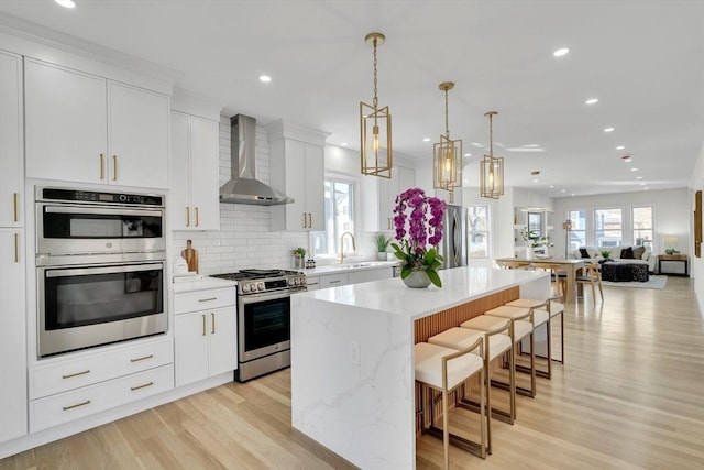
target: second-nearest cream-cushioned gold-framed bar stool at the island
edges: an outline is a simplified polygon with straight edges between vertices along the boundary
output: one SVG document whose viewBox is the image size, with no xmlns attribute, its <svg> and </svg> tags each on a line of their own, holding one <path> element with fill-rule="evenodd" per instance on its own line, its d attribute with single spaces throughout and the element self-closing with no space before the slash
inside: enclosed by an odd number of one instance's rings
<svg viewBox="0 0 704 470">
<path fill-rule="evenodd" d="M 490 362 L 504 352 L 510 351 L 514 346 L 510 341 L 510 332 L 508 331 L 510 328 L 510 321 L 504 320 L 503 323 L 504 329 L 496 330 L 494 332 L 454 327 L 428 338 L 428 342 L 431 345 L 438 345 L 455 350 L 463 350 L 468 348 L 470 345 L 473 345 L 477 338 L 482 338 L 484 340 L 483 360 L 485 380 L 482 386 L 486 390 L 486 451 L 488 453 L 492 453 L 492 392 L 490 387 Z M 505 334 L 502 331 L 504 331 Z M 460 405 L 464 405 L 465 403 L 474 406 L 480 406 L 479 404 L 476 404 L 476 402 L 468 401 L 463 396 L 460 401 Z M 508 417 L 509 423 L 514 424 L 513 414 L 506 414 L 506 416 Z"/>
</svg>

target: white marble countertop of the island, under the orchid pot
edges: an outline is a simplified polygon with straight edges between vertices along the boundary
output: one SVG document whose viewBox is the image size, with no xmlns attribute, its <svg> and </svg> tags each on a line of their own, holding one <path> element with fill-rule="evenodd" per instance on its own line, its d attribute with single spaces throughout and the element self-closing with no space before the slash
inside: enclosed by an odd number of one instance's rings
<svg viewBox="0 0 704 470">
<path fill-rule="evenodd" d="M 439 272 L 442 287 L 408 288 L 398 277 L 373 283 L 352 284 L 296 295 L 370 310 L 418 319 L 504 291 L 521 283 L 548 276 L 542 271 L 454 267 Z"/>
</svg>

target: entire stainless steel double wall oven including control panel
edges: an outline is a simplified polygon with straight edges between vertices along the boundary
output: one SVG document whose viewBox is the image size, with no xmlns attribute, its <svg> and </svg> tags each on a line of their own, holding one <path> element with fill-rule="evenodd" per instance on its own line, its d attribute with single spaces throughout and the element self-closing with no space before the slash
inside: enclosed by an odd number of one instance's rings
<svg viewBox="0 0 704 470">
<path fill-rule="evenodd" d="M 36 187 L 38 357 L 167 330 L 164 196 Z"/>
</svg>

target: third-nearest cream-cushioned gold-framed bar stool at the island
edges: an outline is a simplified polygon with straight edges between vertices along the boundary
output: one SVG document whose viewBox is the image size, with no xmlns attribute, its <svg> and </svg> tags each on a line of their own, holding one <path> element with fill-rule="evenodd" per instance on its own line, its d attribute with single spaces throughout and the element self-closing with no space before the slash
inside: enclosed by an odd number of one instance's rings
<svg viewBox="0 0 704 470">
<path fill-rule="evenodd" d="M 507 318 L 490 317 L 486 315 L 480 315 L 474 318 L 470 318 L 460 325 L 460 328 L 470 330 L 479 330 L 491 335 L 507 335 L 510 341 L 510 349 L 508 350 L 508 383 L 495 381 L 491 378 L 491 370 L 487 363 L 487 378 L 486 386 L 491 385 L 499 386 L 501 389 L 508 390 L 508 413 L 491 408 L 492 416 L 502 419 L 508 424 L 514 424 L 516 420 L 516 369 L 514 368 L 514 324 Z M 493 350 L 492 350 L 493 351 Z M 505 352 L 505 351 L 504 351 Z M 488 389 L 487 389 L 488 390 Z M 488 405 L 487 405 L 488 406 Z"/>
</svg>

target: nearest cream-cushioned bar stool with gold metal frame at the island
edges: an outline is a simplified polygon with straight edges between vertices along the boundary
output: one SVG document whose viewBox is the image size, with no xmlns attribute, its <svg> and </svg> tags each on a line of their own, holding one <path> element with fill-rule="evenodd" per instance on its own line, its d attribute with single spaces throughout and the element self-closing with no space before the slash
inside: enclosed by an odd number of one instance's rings
<svg viewBox="0 0 704 470">
<path fill-rule="evenodd" d="M 428 342 L 418 342 L 415 345 L 414 349 L 416 381 L 442 393 L 442 431 L 440 433 L 440 429 L 435 426 L 435 401 L 432 401 L 430 405 L 430 428 L 425 428 L 424 416 L 422 430 L 429 430 L 430 434 L 437 437 L 442 434 L 444 469 L 448 470 L 450 468 L 450 440 L 452 440 L 452 444 L 457 447 L 475 453 L 483 459 L 486 458 L 486 429 L 484 423 L 484 406 L 486 405 L 486 397 L 484 395 L 483 386 L 480 386 L 481 444 L 477 445 L 476 442 L 451 434 L 448 427 L 448 394 L 457 390 L 465 380 L 474 376 L 475 374 L 480 374 L 481 383 L 485 380 L 484 361 L 482 360 L 484 356 L 483 338 L 476 338 L 472 345 L 459 351 Z M 475 349 L 479 349 L 479 356 L 472 353 Z M 425 386 L 421 386 L 420 401 L 421 414 L 425 414 Z"/>
</svg>

